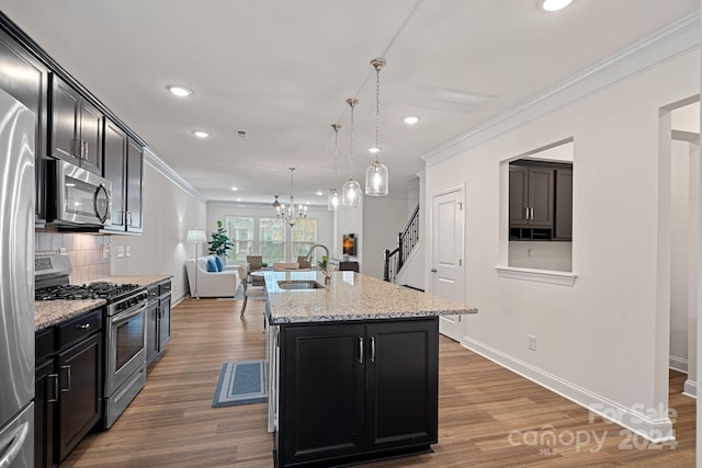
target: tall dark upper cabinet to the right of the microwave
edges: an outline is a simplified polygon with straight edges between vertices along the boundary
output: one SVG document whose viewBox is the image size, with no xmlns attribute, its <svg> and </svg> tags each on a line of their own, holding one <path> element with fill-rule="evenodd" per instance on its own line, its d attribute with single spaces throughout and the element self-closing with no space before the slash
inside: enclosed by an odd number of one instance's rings
<svg viewBox="0 0 702 468">
<path fill-rule="evenodd" d="M 122 128 L 105 119 L 104 178 L 112 182 L 112 226 L 105 230 L 140 233 L 144 150 Z"/>
</svg>

